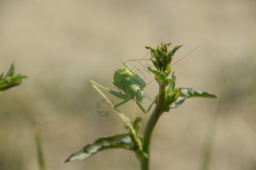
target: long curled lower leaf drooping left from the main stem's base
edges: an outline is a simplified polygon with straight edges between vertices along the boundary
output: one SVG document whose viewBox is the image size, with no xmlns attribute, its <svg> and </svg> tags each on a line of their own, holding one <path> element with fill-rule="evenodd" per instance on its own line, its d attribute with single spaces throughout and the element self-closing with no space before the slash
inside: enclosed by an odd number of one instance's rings
<svg viewBox="0 0 256 170">
<path fill-rule="evenodd" d="M 114 135 L 113 137 L 100 138 L 93 144 L 86 145 L 82 148 L 82 150 L 69 156 L 65 163 L 71 160 L 87 159 L 93 154 L 109 148 L 124 148 L 127 150 L 133 150 L 133 142 L 131 141 L 129 134 L 119 134 Z"/>
</svg>

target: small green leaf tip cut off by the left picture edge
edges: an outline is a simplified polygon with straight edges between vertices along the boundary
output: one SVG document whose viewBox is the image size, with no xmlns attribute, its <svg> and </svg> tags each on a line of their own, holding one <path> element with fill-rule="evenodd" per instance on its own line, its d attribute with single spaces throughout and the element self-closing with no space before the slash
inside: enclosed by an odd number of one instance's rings
<svg viewBox="0 0 256 170">
<path fill-rule="evenodd" d="M 12 63 L 7 74 L 5 76 L 3 76 L 3 73 L 0 75 L 0 91 L 18 86 L 23 78 L 27 78 L 27 76 L 20 74 L 14 75 L 14 63 Z"/>
</svg>

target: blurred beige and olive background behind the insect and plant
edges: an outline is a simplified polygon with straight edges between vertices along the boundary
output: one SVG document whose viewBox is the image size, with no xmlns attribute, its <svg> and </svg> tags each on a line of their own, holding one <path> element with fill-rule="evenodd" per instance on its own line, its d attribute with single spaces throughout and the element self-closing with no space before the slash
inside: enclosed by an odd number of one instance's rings
<svg viewBox="0 0 256 170">
<path fill-rule="evenodd" d="M 126 150 L 64 161 L 99 137 L 126 132 L 117 114 L 97 116 L 102 97 L 89 80 L 114 89 L 122 62 L 147 56 L 144 46 L 161 41 L 183 45 L 173 62 L 200 46 L 172 67 L 176 87 L 220 98 L 189 99 L 160 117 L 151 168 L 203 169 L 209 158 L 209 169 L 256 169 L 255 7 L 253 0 L 0 0 L 0 72 L 15 61 L 16 73 L 28 76 L 0 98 L 0 169 L 38 169 L 36 125 L 48 169 L 139 169 Z M 154 99 L 156 82 L 145 92 Z M 131 119 L 143 117 L 144 128 L 150 113 L 138 107 L 129 112 L 133 107 L 130 101 L 120 110 Z"/>
</svg>

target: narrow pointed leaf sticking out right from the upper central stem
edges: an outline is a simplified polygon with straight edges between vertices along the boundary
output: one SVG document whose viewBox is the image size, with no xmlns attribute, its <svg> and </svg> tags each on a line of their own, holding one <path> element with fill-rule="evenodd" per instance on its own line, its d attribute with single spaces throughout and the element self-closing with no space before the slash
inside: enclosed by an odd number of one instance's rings
<svg viewBox="0 0 256 170">
<path fill-rule="evenodd" d="M 216 98 L 217 95 L 211 94 L 206 91 L 199 91 L 194 90 L 193 88 L 179 88 L 181 92 L 186 96 L 186 98 L 189 97 L 210 97 L 210 98 Z"/>
</svg>

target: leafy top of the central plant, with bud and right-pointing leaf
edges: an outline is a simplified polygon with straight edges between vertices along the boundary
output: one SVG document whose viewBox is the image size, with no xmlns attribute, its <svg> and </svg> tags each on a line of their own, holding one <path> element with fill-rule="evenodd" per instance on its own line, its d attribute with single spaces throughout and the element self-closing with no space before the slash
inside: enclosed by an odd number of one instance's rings
<svg viewBox="0 0 256 170">
<path fill-rule="evenodd" d="M 148 70 L 155 75 L 155 79 L 159 86 L 168 87 L 167 90 L 162 91 L 162 93 L 166 93 L 164 111 L 168 112 L 171 108 L 176 108 L 177 106 L 183 104 L 185 99 L 189 97 L 217 97 L 216 95 L 210 94 L 209 92 L 201 92 L 193 90 L 192 88 L 175 87 L 176 76 L 174 75 L 174 72 L 172 73 L 171 78 L 168 78 L 168 75 L 171 73 L 170 64 L 172 58 L 174 57 L 174 53 L 182 45 L 175 46 L 172 50 L 168 49 L 168 46 L 170 45 L 171 43 L 161 43 L 161 45 L 156 49 L 146 46 L 147 49 L 150 49 L 151 61 L 154 63 L 154 66 L 157 69 L 154 70 L 152 67 L 148 67 Z"/>
</svg>

